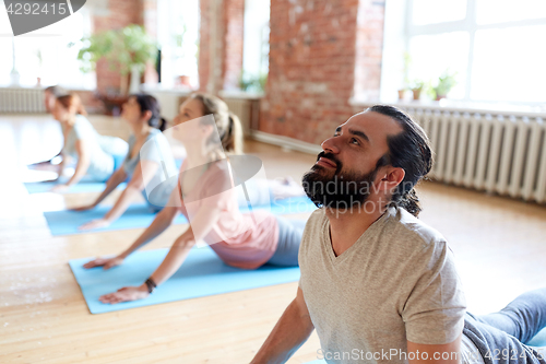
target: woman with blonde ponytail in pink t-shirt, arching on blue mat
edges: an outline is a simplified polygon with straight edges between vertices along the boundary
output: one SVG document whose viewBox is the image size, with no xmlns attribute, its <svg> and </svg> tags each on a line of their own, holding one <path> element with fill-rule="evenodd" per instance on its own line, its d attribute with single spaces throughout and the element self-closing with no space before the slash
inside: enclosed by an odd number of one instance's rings
<svg viewBox="0 0 546 364">
<path fill-rule="evenodd" d="M 109 269 L 121 265 L 130 254 L 163 233 L 179 212 L 190 221 L 190 227 L 175 240 L 165 260 L 144 283 L 103 295 L 103 303 L 147 297 L 178 270 L 198 242 L 211 245 L 225 263 L 237 268 L 298 265 L 304 221 L 288 221 L 259 210 L 244 214 L 238 209 L 230 163 L 224 153 L 240 152 L 242 136 L 238 118 L 226 104 L 214 96 L 194 94 L 180 106 L 175 124 L 175 133 L 183 141 L 188 155 L 169 203 L 127 250 L 114 258 L 97 258 L 84 267 Z"/>
</svg>

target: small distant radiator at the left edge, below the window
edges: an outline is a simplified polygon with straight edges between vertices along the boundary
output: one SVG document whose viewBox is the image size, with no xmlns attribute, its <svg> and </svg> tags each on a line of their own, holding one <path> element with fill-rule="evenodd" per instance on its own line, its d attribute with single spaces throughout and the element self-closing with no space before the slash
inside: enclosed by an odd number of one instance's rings
<svg viewBox="0 0 546 364">
<path fill-rule="evenodd" d="M 43 89 L 0 87 L 0 113 L 45 113 Z"/>
</svg>

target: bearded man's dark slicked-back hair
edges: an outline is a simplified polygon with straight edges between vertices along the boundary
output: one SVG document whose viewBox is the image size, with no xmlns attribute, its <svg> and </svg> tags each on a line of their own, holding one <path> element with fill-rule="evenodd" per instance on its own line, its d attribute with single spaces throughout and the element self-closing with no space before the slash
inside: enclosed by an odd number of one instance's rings
<svg viewBox="0 0 546 364">
<path fill-rule="evenodd" d="M 401 207 L 417 216 L 423 209 L 414 187 L 432 167 L 430 141 L 425 130 L 396 107 L 375 105 L 366 111 L 389 116 L 403 128 L 401 133 L 387 138 L 389 152 L 378 161 L 378 166 L 392 165 L 404 169 L 404 179 L 393 191 L 389 206 Z"/>
</svg>

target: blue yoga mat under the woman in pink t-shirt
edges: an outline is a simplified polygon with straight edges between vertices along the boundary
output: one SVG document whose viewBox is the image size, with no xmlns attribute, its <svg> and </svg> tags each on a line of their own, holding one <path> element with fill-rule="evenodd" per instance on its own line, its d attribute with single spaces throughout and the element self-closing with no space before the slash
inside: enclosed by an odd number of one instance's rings
<svg viewBox="0 0 546 364">
<path fill-rule="evenodd" d="M 296 282 L 299 279 L 298 267 L 265 265 L 257 270 L 233 268 L 225 265 L 210 247 L 202 247 L 193 248 L 182 267 L 147 298 L 116 305 L 98 301 L 100 295 L 123 286 L 141 285 L 159 266 L 167 251 L 168 249 L 138 251 L 126 259 L 122 266 L 106 271 L 103 268 L 82 267 L 93 258 L 73 259 L 69 265 L 92 314 L 251 290 Z"/>
</svg>

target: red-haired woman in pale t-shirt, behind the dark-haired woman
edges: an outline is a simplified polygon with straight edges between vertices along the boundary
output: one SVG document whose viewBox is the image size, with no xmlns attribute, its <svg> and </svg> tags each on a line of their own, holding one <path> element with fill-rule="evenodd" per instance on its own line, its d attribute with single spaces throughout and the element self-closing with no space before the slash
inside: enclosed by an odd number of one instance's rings
<svg viewBox="0 0 546 364">
<path fill-rule="evenodd" d="M 52 190 L 62 190 L 87 176 L 92 180 L 106 180 L 115 171 L 116 157 L 127 153 L 127 143 L 116 137 L 100 136 L 85 118 L 85 109 L 75 94 L 57 97 L 51 111 L 61 124 L 64 145 L 59 177 L 67 167 L 67 158 L 75 161 L 74 174 Z"/>
</svg>

